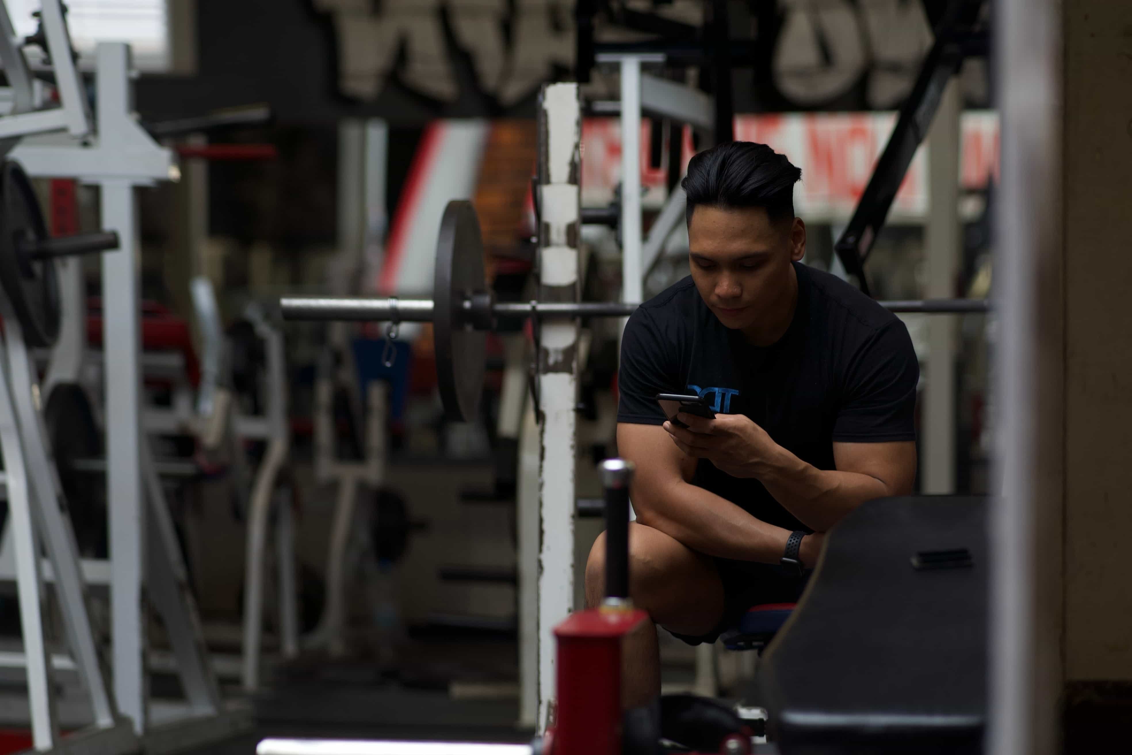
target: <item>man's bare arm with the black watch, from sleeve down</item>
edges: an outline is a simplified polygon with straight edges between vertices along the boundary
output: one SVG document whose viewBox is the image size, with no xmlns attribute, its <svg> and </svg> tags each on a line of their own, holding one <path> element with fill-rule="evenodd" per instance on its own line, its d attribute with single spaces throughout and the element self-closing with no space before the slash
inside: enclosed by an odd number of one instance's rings
<svg viewBox="0 0 1132 755">
<path fill-rule="evenodd" d="M 766 524 L 731 501 L 688 481 L 696 460 L 685 456 L 654 424 L 617 426 L 617 449 L 636 464 L 632 498 L 637 522 L 709 556 L 778 564 L 789 530 Z M 809 540 L 811 538 L 807 538 Z M 813 566 L 809 548 L 803 560 Z"/>
</svg>

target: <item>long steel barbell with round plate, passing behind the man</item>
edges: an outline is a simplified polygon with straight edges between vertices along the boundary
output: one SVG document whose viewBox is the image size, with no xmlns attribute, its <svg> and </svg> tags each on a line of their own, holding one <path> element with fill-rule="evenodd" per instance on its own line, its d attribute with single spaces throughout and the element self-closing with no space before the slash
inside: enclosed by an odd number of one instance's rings
<svg viewBox="0 0 1132 755">
<path fill-rule="evenodd" d="M 472 203 L 453 200 L 437 238 L 432 299 L 397 297 L 283 297 L 289 320 L 432 323 L 437 386 L 445 415 L 471 421 L 483 391 L 487 332 L 500 318 L 568 319 L 627 317 L 637 308 L 621 302 L 498 302 L 483 271 L 483 241 Z M 893 312 L 985 312 L 980 299 L 881 301 Z"/>
</svg>

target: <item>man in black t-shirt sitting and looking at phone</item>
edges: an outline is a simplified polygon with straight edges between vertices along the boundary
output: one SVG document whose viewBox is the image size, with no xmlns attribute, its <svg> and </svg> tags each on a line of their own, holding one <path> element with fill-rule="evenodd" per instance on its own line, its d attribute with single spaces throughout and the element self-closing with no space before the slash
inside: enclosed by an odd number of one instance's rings
<svg viewBox="0 0 1132 755">
<path fill-rule="evenodd" d="M 683 187 L 692 275 L 642 304 L 621 343 L 617 447 L 636 464 L 629 591 L 689 644 L 752 606 L 792 602 L 823 533 L 866 500 L 911 492 L 919 364 L 903 324 L 800 263 L 801 177 L 749 141 L 697 154 Z M 668 421 L 658 393 L 714 420 Z M 604 535 L 586 600 L 601 600 Z M 799 565 L 800 561 L 800 565 Z M 660 692 L 657 633 L 627 638 L 625 703 Z"/>
</svg>

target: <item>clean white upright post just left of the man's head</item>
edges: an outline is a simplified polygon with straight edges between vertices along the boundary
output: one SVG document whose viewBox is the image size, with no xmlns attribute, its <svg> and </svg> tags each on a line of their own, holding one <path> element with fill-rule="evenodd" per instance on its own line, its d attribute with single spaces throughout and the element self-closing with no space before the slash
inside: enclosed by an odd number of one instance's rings
<svg viewBox="0 0 1132 755">
<path fill-rule="evenodd" d="M 641 59 L 625 55 L 620 66 L 621 301 L 640 302 L 644 295 L 644 272 L 641 269 Z"/>
</svg>

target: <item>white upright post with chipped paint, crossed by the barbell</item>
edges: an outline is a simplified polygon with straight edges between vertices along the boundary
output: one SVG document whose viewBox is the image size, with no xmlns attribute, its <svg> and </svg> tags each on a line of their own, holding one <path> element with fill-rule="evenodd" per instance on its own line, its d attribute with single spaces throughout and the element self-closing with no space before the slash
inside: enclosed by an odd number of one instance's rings
<svg viewBox="0 0 1132 755">
<path fill-rule="evenodd" d="M 578 172 L 582 113 L 576 84 L 542 89 L 539 154 L 539 300 L 578 299 Z M 640 234 L 638 234 L 640 235 Z M 640 241 L 640 239 L 638 239 Z M 554 627 L 574 604 L 574 465 L 578 323 L 539 327 L 538 385 L 542 415 L 539 568 L 539 720 L 555 693 Z"/>
</svg>

